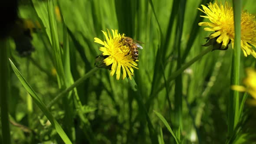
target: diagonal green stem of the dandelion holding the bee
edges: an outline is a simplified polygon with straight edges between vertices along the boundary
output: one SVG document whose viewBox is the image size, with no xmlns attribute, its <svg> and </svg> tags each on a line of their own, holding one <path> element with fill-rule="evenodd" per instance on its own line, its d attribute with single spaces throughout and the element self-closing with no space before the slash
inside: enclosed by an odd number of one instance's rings
<svg viewBox="0 0 256 144">
<path fill-rule="evenodd" d="M 57 101 L 59 101 L 60 98 L 62 98 L 65 94 L 72 91 L 74 88 L 76 88 L 78 85 L 80 85 L 82 82 L 84 82 L 86 79 L 88 79 L 91 75 L 93 75 L 99 68 L 95 67 L 94 69 L 87 72 L 85 75 L 83 75 L 80 79 L 75 81 L 72 85 L 70 85 L 68 88 L 66 88 L 64 91 L 60 92 L 52 101 L 49 102 L 47 105 L 47 108 L 51 108 Z"/>
</svg>

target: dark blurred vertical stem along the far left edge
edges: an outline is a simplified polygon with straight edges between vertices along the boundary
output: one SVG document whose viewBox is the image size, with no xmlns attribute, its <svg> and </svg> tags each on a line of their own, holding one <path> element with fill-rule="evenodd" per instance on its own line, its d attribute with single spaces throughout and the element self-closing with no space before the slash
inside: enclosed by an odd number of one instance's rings
<svg viewBox="0 0 256 144">
<path fill-rule="evenodd" d="M 0 106 L 2 143 L 10 144 L 10 126 L 8 117 L 8 95 L 9 95 L 9 69 L 7 65 L 7 39 L 0 40 Z"/>
</svg>

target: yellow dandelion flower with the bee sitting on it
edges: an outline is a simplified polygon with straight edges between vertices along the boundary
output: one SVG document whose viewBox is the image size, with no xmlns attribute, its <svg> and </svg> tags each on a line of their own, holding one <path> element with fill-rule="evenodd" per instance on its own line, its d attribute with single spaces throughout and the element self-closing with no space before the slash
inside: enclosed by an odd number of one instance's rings
<svg viewBox="0 0 256 144">
<path fill-rule="evenodd" d="M 125 39 L 125 34 L 118 33 L 118 30 L 111 29 L 112 34 L 109 32 L 102 33 L 105 36 L 105 41 L 101 39 L 94 38 L 95 43 L 103 45 L 99 50 L 102 51 L 102 55 L 98 56 L 97 59 L 102 59 L 105 63 L 103 68 L 111 68 L 110 75 L 113 76 L 116 73 L 116 79 L 120 79 L 121 71 L 123 73 L 122 79 L 125 79 L 126 73 L 129 78 L 133 76 L 133 68 L 137 68 L 137 63 L 133 61 L 131 57 L 130 48 L 125 45 L 123 39 Z"/>
</svg>

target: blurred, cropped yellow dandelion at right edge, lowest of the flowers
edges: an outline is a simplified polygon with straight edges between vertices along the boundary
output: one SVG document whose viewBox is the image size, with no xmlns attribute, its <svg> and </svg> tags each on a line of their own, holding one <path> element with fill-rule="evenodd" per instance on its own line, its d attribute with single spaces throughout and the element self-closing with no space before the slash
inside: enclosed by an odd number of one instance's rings
<svg viewBox="0 0 256 144">
<path fill-rule="evenodd" d="M 243 79 L 243 84 L 246 86 L 240 85 L 232 85 L 231 88 L 233 90 L 237 90 L 240 92 L 248 92 L 253 98 L 256 99 L 256 71 L 252 68 L 246 69 L 247 77 Z"/>
</svg>

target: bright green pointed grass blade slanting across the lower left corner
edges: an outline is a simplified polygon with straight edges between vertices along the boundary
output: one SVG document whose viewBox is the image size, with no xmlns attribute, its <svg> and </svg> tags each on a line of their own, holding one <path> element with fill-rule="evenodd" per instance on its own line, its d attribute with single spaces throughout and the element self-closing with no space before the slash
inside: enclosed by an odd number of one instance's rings
<svg viewBox="0 0 256 144">
<path fill-rule="evenodd" d="M 11 67 L 26 89 L 26 91 L 31 95 L 33 98 L 33 101 L 36 103 L 36 105 L 43 111 L 44 115 L 48 118 L 48 120 L 51 122 L 53 125 L 53 128 L 56 129 L 57 133 L 59 136 L 62 138 L 62 140 L 66 144 L 72 144 L 72 142 L 69 140 L 69 137 L 66 135 L 66 133 L 63 131 L 59 123 L 56 121 L 56 119 L 53 117 L 53 115 L 50 113 L 50 111 L 46 108 L 46 105 L 43 103 L 43 101 L 40 100 L 40 98 L 36 95 L 36 92 L 31 88 L 31 86 L 26 82 L 26 79 L 23 77 L 23 75 L 20 73 L 20 71 L 16 68 L 16 66 L 13 64 L 13 62 L 9 59 Z"/>
</svg>

